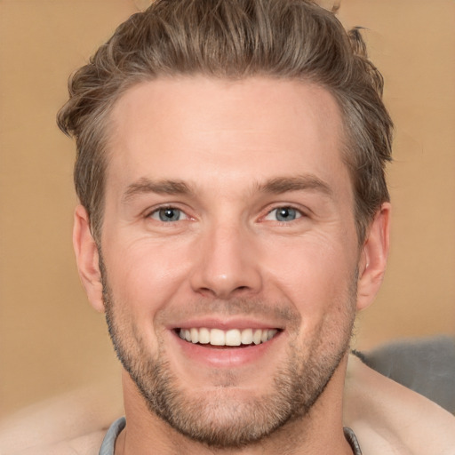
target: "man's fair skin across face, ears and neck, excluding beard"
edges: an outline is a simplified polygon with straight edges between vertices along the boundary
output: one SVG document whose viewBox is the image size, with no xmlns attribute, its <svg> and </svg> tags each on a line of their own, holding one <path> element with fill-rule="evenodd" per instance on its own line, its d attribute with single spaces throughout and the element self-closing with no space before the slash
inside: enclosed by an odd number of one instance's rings
<svg viewBox="0 0 455 455">
<path fill-rule="evenodd" d="M 147 447 L 164 454 L 351 453 L 342 432 L 347 342 L 355 312 L 379 290 L 390 207 L 380 207 L 359 247 L 330 93 L 260 77 L 163 78 L 126 92 L 110 120 L 100 249 L 124 350 L 138 364 L 163 361 L 180 395 L 202 401 L 203 411 L 214 406 L 218 427 L 233 415 L 253 419 L 253 402 L 267 406 L 283 365 L 302 365 L 301 377 L 328 365 L 308 413 L 255 443 L 224 449 L 157 417 L 124 371 L 128 425 L 116 455 Z M 180 219 L 160 220 L 163 207 Z M 278 220 L 283 207 L 295 209 L 295 219 Z M 88 297 L 104 311 L 99 250 L 81 206 L 74 243 Z M 194 351 L 175 335 L 185 324 L 255 324 L 279 334 L 250 351 Z M 204 412 L 195 415 L 204 420 Z"/>
</svg>

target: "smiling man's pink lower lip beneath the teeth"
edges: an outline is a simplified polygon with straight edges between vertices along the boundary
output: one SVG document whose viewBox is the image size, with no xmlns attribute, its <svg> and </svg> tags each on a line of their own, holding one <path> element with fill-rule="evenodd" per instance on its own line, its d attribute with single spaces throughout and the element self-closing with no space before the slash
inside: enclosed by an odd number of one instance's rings
<svg viewBox="0 0 455 455">
<path fill-rule="evenodd" d="M 282 332 L 279 331 L 273 339 L 265 343 L 245 347 L 211 347 L 208 344 L 200 345 L 180 339 L 175 331 L 172 331 L 172 335 L 189 359 L 211 367 L 234 368 L 258 362 L 261 357 L 269 354 L 281 338 Z"/>
</svg>

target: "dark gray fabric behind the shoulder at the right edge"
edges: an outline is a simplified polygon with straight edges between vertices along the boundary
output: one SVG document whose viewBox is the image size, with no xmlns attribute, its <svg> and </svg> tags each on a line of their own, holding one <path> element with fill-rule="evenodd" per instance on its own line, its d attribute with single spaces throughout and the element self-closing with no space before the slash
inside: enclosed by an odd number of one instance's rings
<svg viewBox="0 0 455 455">
<path fill-rule="evenodd" d="M 402 339 L 360 355 L 373 370 L 455 413 L 455 339 Z"/>
</svg>

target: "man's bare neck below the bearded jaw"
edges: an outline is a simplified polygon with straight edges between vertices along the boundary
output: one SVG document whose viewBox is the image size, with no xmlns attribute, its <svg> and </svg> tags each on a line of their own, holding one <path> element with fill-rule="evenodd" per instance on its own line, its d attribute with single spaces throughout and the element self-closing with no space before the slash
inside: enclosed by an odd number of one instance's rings
<svg viewBox="0 0 455 455">
<path fill-rule="evenodd" d="M 181 435 L 155 413 L 129 375 L 124 372 L 124 407 L 127 425 L 116 442 L 116 455 L 352 455 L 343 434 L 342 395 L 347 356 L 306 416 L 293 419 L 271 435 L 241 448 L 212 448 Z"/>
</svg>

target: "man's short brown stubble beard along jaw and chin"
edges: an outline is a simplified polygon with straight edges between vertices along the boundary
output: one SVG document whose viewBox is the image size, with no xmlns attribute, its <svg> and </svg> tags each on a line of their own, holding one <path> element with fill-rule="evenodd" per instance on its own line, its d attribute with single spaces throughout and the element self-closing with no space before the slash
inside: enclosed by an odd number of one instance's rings
<svg viewBox="0 0 455 455">
<path fill-rule="evenodd" d="M 338 321 L 322 326 L 306 349 L 289 343 L 287 360 L 271 381 L 272 390 L 243 399 L 229 388 L 228 374 L 226 383 L 210 394 L 189 395 L 165 360 L 163 340 L 158 340 L 158 352 L 153 356 L 135 327 L 125 330 L 117 320 L 105 272 L 103 298 L 116 355 L 148 410 L 193 441 L 212 448 L 238 449 L 264 440 L 288 422 L 305 418 L 322 395 L 349 347 L 355 320 L 355 283 L 356 279 L 339 304 Z"/>
</svg>

